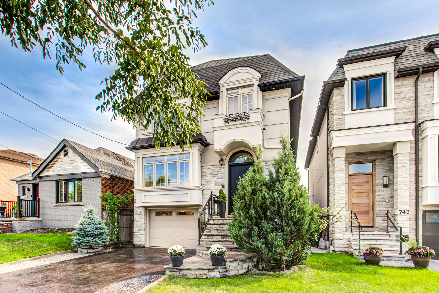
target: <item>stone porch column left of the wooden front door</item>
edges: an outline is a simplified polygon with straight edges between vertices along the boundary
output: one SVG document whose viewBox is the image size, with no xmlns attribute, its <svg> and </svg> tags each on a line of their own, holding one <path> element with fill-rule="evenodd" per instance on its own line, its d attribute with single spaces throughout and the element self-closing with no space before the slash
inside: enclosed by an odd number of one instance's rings
<svg viewBox="0 0 439 293">
<path fill-rule="evenodd" d="M 346 174 L 345 174 L 345 147 L 335 147 L 332 150 L 332 179 L 329 205 L 335 207 L 338 212 L 346 205 Z M 342 211 L 343 219 L 346 218 L 347 211 Z M 345 238 L 345 222 L 339 222 L 331 226 L 331 238 L 334 239 L 335 251 L 349 251 L 348 238 Z"/>
</svg>

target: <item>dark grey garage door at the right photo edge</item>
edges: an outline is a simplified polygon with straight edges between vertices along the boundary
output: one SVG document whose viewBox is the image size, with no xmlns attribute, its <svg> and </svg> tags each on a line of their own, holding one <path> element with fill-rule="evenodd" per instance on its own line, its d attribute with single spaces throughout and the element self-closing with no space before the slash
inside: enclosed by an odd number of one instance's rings
<svg viewBox="0 0 439 293">
<path fill-rule="evenodd" d="M 432 259 L 439 260 L 439 210 L 422 212 L 422 245 L 436 251 Z"/>
</svg>

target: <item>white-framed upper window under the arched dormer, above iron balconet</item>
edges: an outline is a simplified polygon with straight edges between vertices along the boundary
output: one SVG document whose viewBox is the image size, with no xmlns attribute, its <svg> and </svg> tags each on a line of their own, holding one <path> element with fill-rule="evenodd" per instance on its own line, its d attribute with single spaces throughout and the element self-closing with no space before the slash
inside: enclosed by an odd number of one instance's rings
<svg viewBox="0 0 439 293">
<path fill-rule="evenodd" d="M 249 112 L 253 109 L 253 86 L 227 90 L 227 114 Z"/>
</svg>

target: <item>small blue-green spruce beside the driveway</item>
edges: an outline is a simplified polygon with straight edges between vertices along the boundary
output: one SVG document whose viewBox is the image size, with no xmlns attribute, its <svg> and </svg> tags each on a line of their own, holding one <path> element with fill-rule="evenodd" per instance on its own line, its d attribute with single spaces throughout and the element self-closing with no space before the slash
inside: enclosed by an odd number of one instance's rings
<svg viewBox="0 0 439 293">
<path fill-rule="evenodd" d="M 104 246 L 110 241 L 104 223 L 104 220 L 96 216 L 96 208 L 91 205 L 84 207 L 84 213 L 75 226 L 76 230 L 73 230 L 76 236 L 70 237 L 73 239 L 72 246 L 89 246 L 90 249 L 93 245 Z"/>
</svg>

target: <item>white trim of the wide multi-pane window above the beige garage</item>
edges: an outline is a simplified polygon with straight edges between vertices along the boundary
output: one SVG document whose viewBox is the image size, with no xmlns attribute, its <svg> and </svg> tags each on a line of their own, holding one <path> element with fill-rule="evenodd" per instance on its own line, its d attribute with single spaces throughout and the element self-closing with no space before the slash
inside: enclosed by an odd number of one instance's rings
<svg viewBox="0 0 439 293">
<path fill-rule="evenodd" d="M 189 159 L 180 159 L 180 155 L 189 155 Z M 155 162 L 155 158 L 156 157 L 165 157 L 165 161 L 162 162 Z M 176 160 L 173 161 L 168 161 L 168 156 L 177 156 Z M 152 163 L 144 163 L 144 159 L 146 158 L 153 158 L 154 162 Z M 179 187 L 186 187 L 186 186 L 190 186 L 191 185 L 191 169 L 190 169 L 190 160 L 191 160 L 191 155 L 190 153 L 185 152 L 184 154 L 182 153 L 173 153 L 173 154 L 160 154 L 159 156 L 142 156 L 141 157 L 142 160 L 142 188 L 179 188 Z M 189 162 L 189 182 L 188 184 L 180 184 L 180 162 Z M 168 185 L 168 163 L 177 163 L 177 184 L 176 185 Z M 165 164 L 165 185 L 164 186 L 157 186 L 156 185 L 156 165 L 158 164 Z M 145 166 L 149 166 L 152 165 L 152 186 L 145 186 Z"/>
</svg>

